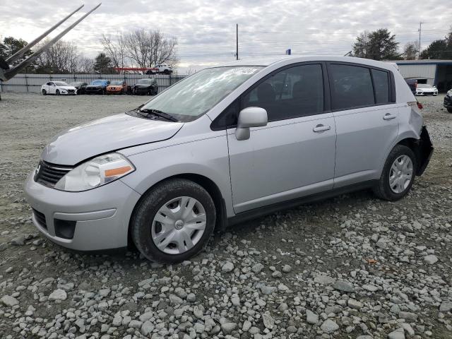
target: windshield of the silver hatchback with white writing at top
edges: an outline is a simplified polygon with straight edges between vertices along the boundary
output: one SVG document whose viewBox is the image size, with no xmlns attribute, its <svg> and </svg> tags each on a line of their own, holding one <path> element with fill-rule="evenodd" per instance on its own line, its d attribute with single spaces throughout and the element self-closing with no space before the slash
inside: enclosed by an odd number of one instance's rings
<svg viewBox="0 0 452 339">
<path fill-rule="evenodd" d="M 157 109 L 181 121 L 192 121 L 208 112 L 262 68 L 236 66 L 204 69 L 157 95 L 142 109 Z"/>
</svg>

